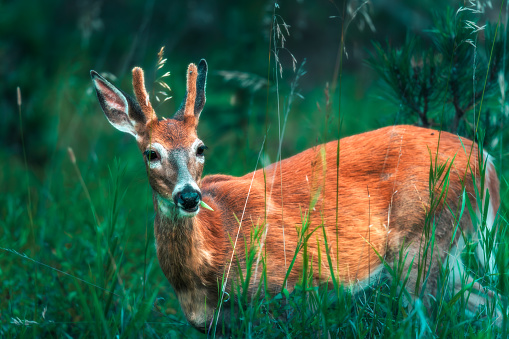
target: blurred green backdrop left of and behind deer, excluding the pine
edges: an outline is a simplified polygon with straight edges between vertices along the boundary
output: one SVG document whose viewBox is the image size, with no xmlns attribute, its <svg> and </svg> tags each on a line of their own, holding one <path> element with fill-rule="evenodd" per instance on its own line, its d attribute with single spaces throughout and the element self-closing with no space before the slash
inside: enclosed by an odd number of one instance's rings
<svg viewBox="0 0 509 339">
<path fill-rule="evenodd" d="M 171 117 L 187 65 L 205 58 L 205 174 L 242 175 L 264 139 L 262 164 L 276 160 L 278 116 L 287 116 L 283 158 L 406 122 L 366 63 L 373 42 L 431 44 L 433 13 L 460 6 L 496 22 L 501 2 L 0 1 L 0 334 L 73 335 L 97 323 L 189 330 L 155 258 L 142 158 L 105 119 L 91 69 L 132 93 L 130 71 L 141 66 L 156 112 Z M 492 145 L 500 166 L 506 145 Z"/>
</svg>

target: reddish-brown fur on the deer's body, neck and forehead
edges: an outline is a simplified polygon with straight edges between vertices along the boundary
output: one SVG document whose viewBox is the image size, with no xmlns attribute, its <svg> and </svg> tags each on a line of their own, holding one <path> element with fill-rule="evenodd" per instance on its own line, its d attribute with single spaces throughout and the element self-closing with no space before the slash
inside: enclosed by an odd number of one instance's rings
<svg viewBox="0 0 509 339">
<path fill-rule="evenodd" d="M 150 140 L 147 133 L 138 134 L 142 151 L 155 142 L 170 151 L 189 149 L 195 142 L 199 117 L 199 112 L 193 114 L 197 72 L 196 66 L 190 65 L 183 117 L 178 115 L 176 120 L 147 124 Z M 137 96 L 138 92 L 140 90 L 136 91 Z M 339 170 L 336 166 L 338 147 Z M 433 260 L 428 260 L 431 273 L 427 288 L 433 292 L 437 288 L 439 264 L 445 262 L 451 250 L 449 244 L 456 225 L 449 211 L 459 211 L 464 190 L 476 205 L 472 173 L 479 178 L 477 155 L 477 146 L 472 141 L 460 141 L 456 135 L 414 126 L 391 126 L 346 137 L 339 143 L 333 141 L 316 146 L 242 177 L 210 175 L 201 179 L 203 165 L 191 159 L 187 164 L 189 173 L 201 189 L 202 200 L 213 211 L 201 208 L 190 218 L 165 214 L 158 205 L 160 196 L 171 195 L 178 179 L 175 171 L 168 170 L 173 173 L 170 175 L 168 171 L 147 167 L 154 188 L 154 231 L 161 269 L 189 322 L 203 330 L 210 323 L 213 307 L 221 297 L 218 283 L 229 273 L 226 292 L 231 291 L 231 282 L 236 280 L 237 260 L 245 271 L 245 239 L 249 242 L 255 226 L 264 227 L 266 231 L 261 253 L 268 277 L 267 288 L 276 293 L 282 288 L 297 246 L 297 228 L 302 227 L 306 215 L 310 216 L 310 231 L 318 228 L 307 247 L 315 283 L 331 282 L 329 253 L 335 276 L 344 284 L 356 284 L 378 272 L 382 263 L 376 252 L 392 263 L 405 244 L 409 252 L 406 265 L 415 257 L 415 266 L 422 249 L 426 215 L 431 213 L 436 217 L 436 248 Z M 438 208 L 431 210 L 429 171 L 430 165 L 433 167 L 437 161 L 450 165 L 451 170 L 448 193 Z M 486 178 L 491 207 L 496 213 L 498 179 L 491 164 Z M 442 185 L 438 185 L 435 193 L 439 194 L 441 189 Z M 460 227 L 475 238 L 467 213 Z M 460 233 L 452 247 L 457 245 Z M 231 240 L 236 243 L 235 249 Z M 303 265 L 302 255 L 298 255 L 289 276 L 289 290 L 298 281 Z M 261 269 L 258 268 L 259 272 Z M 415 288 L 415 271 L 412 270 L 407 285 L 412 293 L 419 292 Z M 250 293 L 257 288 L 259 279 L 260 273 L 257 280 L 253 279 Z"/>
</svg>

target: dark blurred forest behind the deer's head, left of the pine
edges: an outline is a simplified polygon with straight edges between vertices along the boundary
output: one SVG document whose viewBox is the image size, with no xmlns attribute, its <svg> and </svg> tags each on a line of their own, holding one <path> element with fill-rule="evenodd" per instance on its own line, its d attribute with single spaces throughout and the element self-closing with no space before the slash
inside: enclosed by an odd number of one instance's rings
<svg viewBox="0 0 509 339">
<path fill-rule="evenodd" d="M 289 26 L 289 34 L 283 32 L 285 50 L 279 51 L 283 67 L 283 79 L 278 83 L 281 104 L 295 78 L 292 55 L 297 67 L 305 60 L 306 74 L 297 88 L 303 98 L 294 100 L 283 141 L 287 156 L 321 137 L 326 101 L 323 92 L 327 83 L 337 81 L 334 70 L 344 23 L 349 26 L 342 67 L 341 119 L 344 135 L 350 135 L 398 123 L 394 118 L 398 106 L 378 99 L 380 93 L 374 90 L 378 76 L 365 63 L 373 50 L 372 42 L 401 46 L 411 35 L 421 36 L 429 44 L 425 30 L 433 26 L 432 14 L 459 5 L 431 0 L 351 1 L 346 6 L 340 1 L 282 1 L 275 9 L 272 1 L 3 1 L 2 152 L 10 155 L 9 161 L 22 154 L 16 97 L 19 87 L 27 160 L 36 171 L 68 146 L 78 150 L 78 158 L 103 160 L 103 155 L 120 155 L 107 152 L 105 148 L 114 145 L 101 138 L 114 136 L 120 142 L 128 137 L 117 134 L 102 120 L 99 107 L 94 105 L 88 72 L 94 69 L 111 75 L 114 83 L 132 93 L 130 70 L 141 66 L 148 75 L 149 91 L 155 93 L 162 90 L 153 81 L 157 53 L 164 46 L 167 62 L 163 71 L 171 72 L 165 81 L 173 98 L 159 105 L 157 112 L 164 116 L 175 112 L 185 91 L 187 64 L 205 58 L 210 73 L 200 133 L 209 143 L 219 143 L 212 146 L 216 149 L 218 145 L 222 151 L 210 157 L 219 164 L 226 159 L 238 163 L 238 156 L 245 157 L 241 159 L 244 166 L 232 168 L 241 174 L 253 167 L 249 152 L 258 152 L 264 134 L 259 126 L 265 126 L 266 111 L 270 118 L 275 111 L 274 56 L 269 65 L 274 13 L 280 24 L 284 21 Z M 481 21 L 496 21 L 499 7 L 484 7 Z M 233 80 L 228 81 L 231 77 Z M 337 95 L 331 94 L 336 116 Z M 337 138 L 337 133 L 332 135 Z M 244 145 L 246 140 L 251 140 L 247 153 L 234 158 L 228 144 Z M 131 148 L 127 152 L 131 152 L 134 143 L 128 145 Z M 220 168 L 212 159 L 206 170 L 216 172 Z"/>
</svg>

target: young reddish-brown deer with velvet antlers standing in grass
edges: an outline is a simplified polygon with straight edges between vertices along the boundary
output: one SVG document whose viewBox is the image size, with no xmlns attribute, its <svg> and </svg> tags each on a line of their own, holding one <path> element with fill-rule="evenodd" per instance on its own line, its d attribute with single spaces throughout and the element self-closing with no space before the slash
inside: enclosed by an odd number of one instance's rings
<svg viewBox="0 0 509 339">
<path fill-rule="evenodd" d="M 297 256 L 285 280 L 286 257 L 296 250 L 303 215 L 310 229 L 321 229 L 313 233 L 318 241 L 308 242 L 313 283 L 330 284 L 334 275 L 344 285 L 365 288 L 405 246 L 410 259 L 404 272 L 411 269 L 408 291 L 411 298 L 419 297 L 422 282 L 416 266 L 425 246 L 421 238 L 431 210 L 430 194 L 443 188 L 438 185 L 430 193 L 433 163 L 447 164 L 449 174 L 447 192 L 433 211 L 435 249 L 427 259 L 426 288 L 436 291 L 441 264 L 448 263 L 450 288 L 461 291 L 466 269 L 460 253 L 470 238 L 481 242 L 485 235 L 475 229 L 468 213 L 458 220 L 454 212 L 465 199 L 480 209 L 475 199 L 480 164 L 485 166 L 483 204 L 488 199 L 489 231 L 496 227 L 500 205 L 493 159 L 475 142 L 445 131 L 395 125 L 315 146 L 241 177 L 202 177 L 207 146 L 198 138 L 197 126 L 205 105 L 207 69 L 204 59 L 188 66 L 186 94 L 168 119 L 158 118 L 152 108 L 141 68 L 132 70 L 135 98 L 91 71 L 107 120 L 134 136 L 143 155 L 153 192 L 157 258 L 192 326 L 201 331 L 210 327 L 214 305 L 232 291 L 232 277 L 238 274 L 232 270 L 224 288 L 218 288 L 232 264 L 245 274 L 246 245 L 233 239 L 249 239 L 257 225 L 265 227 L 266 289 L 278 293 L 284 284 L 291 292 L 304 262 Z M 494 255 L 483 248 L 477 247 L 478 259 L 494 270 Z M 326 255 L 335 263 L 332 267 Z M 250 283 L 251 295 L 259 280 L 260 275 Z M 475 313 L 490 293 L 470 276 L 466 283 L 480 291 L 465 291 L 470 294 L 468 308 Z M 429 305 L 429 298 L 424 299 Z M 229 313 L 223 312 L 225 317 Z"/>
</svg>

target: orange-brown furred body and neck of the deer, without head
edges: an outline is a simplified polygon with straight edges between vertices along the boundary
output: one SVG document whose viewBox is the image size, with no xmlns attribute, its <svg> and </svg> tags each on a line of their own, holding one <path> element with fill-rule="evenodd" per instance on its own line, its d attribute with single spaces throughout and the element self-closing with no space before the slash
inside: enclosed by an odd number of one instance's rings
<svg viewBox="0 0 509 339">
<path fill-rule="evenodd" d="M 463 139 L 463 143 L 472 144 L 466 139 Z M 306 150 L 283 160 L 280 164 L 255 172 L 250 191 L 253 173 L 240 178 L 223 175 L 207 176 L 201 182 L 201 190 L 204 201 L 214 209 L 214 212 L 202 209 L 192 220 L 185 220 L 187 226 L 181 225 L 179 221 L 177 225 L 167 225 L 167 223 L 175 222 L 174 220 L 160 218 L 156 220 L 155 234 L 161 268 L 167 274 L 177 295 L 180 293 L 197 295 L 199 291 L 198 294 L 202 295 L 205 290 L 207 305 L 215 305 L 219 297 L 217 283 L 227 271 L 233 250 L 228 241 L 228 235 L 232 239 L 236 237 L 239 225 L 235 216 L 241 219 L 249 192 L 240 230 L 241 241 L 237 243 L 235 256 L 241 265 L 245 264 L 243 239 L 250 238 L 254 225 L 264 222 L 266 209 L 269 209 L 266 219 L 268 231 L 265 241 L 267 255 L 265 263 L 269 277 L 268 289 L 278 292 L 282 287 L 285 268 L 289 265 L 297 245 L 296 227 L 302 225 L 301 213 L 307 211 L 313 195 L 318 191 L 320 192 L 318 203 L 314 210 L 310 211 L 311 229 L 321 225 L 325 227 L 330 255 L 334 265 L 336 263 L 338 265 L 337 269 L 335 268 L 335 275 L 340 281 L 353 284 L 367 279 L 380 265 L 380 259 L 373 249 L 386 258 L 388 263 L 392 263 L 403 243 L 409 245 L 410 259 L 407 260 L 407 265 L 415 256 L 414 266 L 416 266 L 419 250 L 422 250 L 420 239 L 425 214 L 429 211 L 428 173 L 432 159 L 430 159 L 428 148 L 434 161 L 437 145 L 438 133 L 433 135 L 430 130 L 413 126 L 387 127 L 342 139 L 337 226 L 335 166 L 337 142 L 335 141 L 324 145 L 326 164 L 321 163 L 323 160 L 313 161 L 321 159 L 321 147 Z M 476 151 L 473 154 L 477 154 Z M 458 211 L 463 183 L 467 192 L 473 193 L 470 169 L 477 171 L 477 158 L 473 156 L 468 160 L 468 154 L 465 154 L 462 149 L 459 138 L 443 132 L 438 149 L 438 161 L 451 163 L 454 156 L 449 192 L 445 201 L 451 210 Z M 322 167 L 325 167 L 323 172 Z M 470 169 L 467 170 L 467 168 Z M 267 206 L 265 206 L 263 171 L 267 178 Z M 313 177 L 313 173 L 316 172 L 319 172 L 319 175 L 315 174 Z M 475 205 L 474 200 L 471 202 Z M 437 246 L 431 262 L 432 272 L 427 285 L 429 291 L 436 289 L 438 265 L 439 262 L 445 261 L 454 230 L 454 220 L 447 210 L 440 207 L 435 213 L 438 218 Z M 283 225 L 285 246 L 283 246 Z M 467 233 L 473 231 L 466 215 L 461 221 L 461 228 Z M 171 230 L 174 232 L 174 237 L 180 237 L 179 240 L 166 238 L 164 232 L 160 231 L 162 229 Z M 318 256 L 318 244 L 321 246 L 321 260 Z M 173 246 L 177 246 L 178 249 Z M 286 253 L 283 247 L 286 248 Z M 176 255 L 180 253 L 179 251 L 182 255 Z M 206 251 L 209 255 L 203 255 L 202 251 Z M 316 231 L 309 241 L 308 253 L 313 258 L 314 280 L 316 282 L 330 281 L 330 270 L 321 230 Z M 318 267 L 319 261 L 322 265 L 321 270 Z M 235 263 L 233 265 L 235 268 Z M 302 267 L 302 257 L 298 256 L 290 274 L 290 290 L 297 282 Z M 178 273 L 174 273 L 175 268 L 178 268 Z M 244 266 L 242 268 L 245 270 Z M 257 281 L 253 281 L 252 292 L 257 284 Z M 415 284 L 416 275 L 412 274 L 408 283 L 410 291 L 414 291 Z M 181 292 L 180 287 L 185 292 Z M 229 288 L 230 285 L 227 291 Z M 190 293 L 190 290 L 196 293 Z M 415 292 L 418 293 L 419 290 Z M 189 306 L 182 305 L 186 314 L 193 312 L 186 311 L 186 307 L 193 310 L 197 306 L 195 302 L 197 300 L 193 299 Z M 202 299 L 201 302 L 203 303 L 204 300 Z M 211 316 L 212 313 L 207 315 L 208 321 Z M 190 321 L 194 326 L 200 328 L 205 326 L 204 323 L 197 324 L 191 319 Z"/>
</svg>

